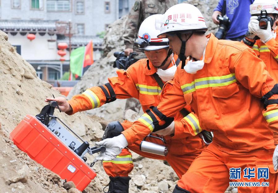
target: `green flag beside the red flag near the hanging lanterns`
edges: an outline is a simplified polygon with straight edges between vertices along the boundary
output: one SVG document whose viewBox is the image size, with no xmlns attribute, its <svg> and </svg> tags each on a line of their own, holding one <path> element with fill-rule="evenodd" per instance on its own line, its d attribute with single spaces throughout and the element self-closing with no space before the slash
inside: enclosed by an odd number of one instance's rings
<svg viewBox="0 0 278 193">
<path fill-rule="evenodd" d="M 82 76 L 85 46 L 78 47 L 70 53 L 70 72 Z"/>
</svg>

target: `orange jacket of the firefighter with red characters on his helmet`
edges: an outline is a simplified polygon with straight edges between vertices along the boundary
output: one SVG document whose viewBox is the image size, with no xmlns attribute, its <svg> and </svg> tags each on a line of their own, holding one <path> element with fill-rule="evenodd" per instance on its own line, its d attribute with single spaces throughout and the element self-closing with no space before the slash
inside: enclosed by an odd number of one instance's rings
<svg viewBox="0 0 278 193">
<path fill-rule="evenodd" d="M 172 117 L 190 105 L 199 117 L 201 128 L 213 131 L 213 142 L 221 147 L 256 149 L 267 142 L 273 144 L 273 132 L 278 144 L 278 105 L 264 109 L 259 101 L 275 84 L 265 64 L 242 43 L 218 40 L 213 34 L 207 37 L 210 39 L 204 68 L 196 74 L 188 74 L 179 66 L 174 80 L 163 88 L 158 110 Z M 274 97 L 277 95 L 269 99 Z M 138 133 L 137 126 L 142 127 L 144 123 L 135 121 L 123 132 L 129 143 L 150 132 L 145 126 L 145 130 Z"/>
</svg>

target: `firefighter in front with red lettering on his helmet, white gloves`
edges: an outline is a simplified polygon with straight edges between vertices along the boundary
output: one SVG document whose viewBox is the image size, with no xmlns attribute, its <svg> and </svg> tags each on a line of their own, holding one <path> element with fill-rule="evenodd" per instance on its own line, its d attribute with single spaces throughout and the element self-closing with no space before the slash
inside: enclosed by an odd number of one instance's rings
<svg viewBox="0 0 278 193">
<path fill-rule="evenodd" d="M 161 31 L 158 38 L 169 39 L 182 65 L 164 86 L 162 102 L 151 110 L 149 123 L 163 124 L 159 113 L 164 119 L 173 117 L 190 105 L 200 127 L 214 132 L 213 142 L 193 161 L 173 193 L 223 193 L 229 182 L 259 183 L 239 187 L 242 192 L 275 193 L 278 86 L 263 61 L 240 42 L 205 36 L 204 18 L 191 4 L 172 6 L 156 20 L 156 28 Z M 191 60 L 186 63 L 188 56 Z M 143 126 L 145 130 L 138 131 Z M 150 132 L 139 119 L 122 132 L 124 138 L 97 142 L 107 151 L 96 159 L 113 158 L 125 143 L 132 144 Z M 260 187 L 265 182 L 269 187 Z"/>
</svg>

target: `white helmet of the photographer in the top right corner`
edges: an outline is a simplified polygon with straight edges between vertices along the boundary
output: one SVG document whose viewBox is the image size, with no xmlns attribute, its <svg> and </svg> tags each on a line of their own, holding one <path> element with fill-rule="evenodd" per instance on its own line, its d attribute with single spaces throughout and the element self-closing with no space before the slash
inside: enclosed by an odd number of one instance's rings
<svg viewBox="0 0 278 193">
<path fill-rule="evenodd" d="M 278 5 L 276 0 L 255 0 L 250 5 L 250 14 L 260 14 L 261 10 L 266 10 L 267 13 L 278 14 Z"/>
</svg>

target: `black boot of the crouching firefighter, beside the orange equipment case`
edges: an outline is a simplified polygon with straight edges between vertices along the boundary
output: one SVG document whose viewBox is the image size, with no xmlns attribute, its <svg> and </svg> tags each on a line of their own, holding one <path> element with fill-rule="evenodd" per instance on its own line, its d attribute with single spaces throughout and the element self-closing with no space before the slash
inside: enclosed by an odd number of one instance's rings
<svg viewBox="0 0 278 193">
<path fill-rule="evenodd" d="M 104 189 L 107 187 L 103 188 L 103 192 L 105 193 L 128 193 L 128 188 L 129 188 L 129 180 L 131 179 L 130 177 L 110 177 L 110 182 L 107 186 L 109 186 L 108 192 L 104 191 Z"/>
</svg>

